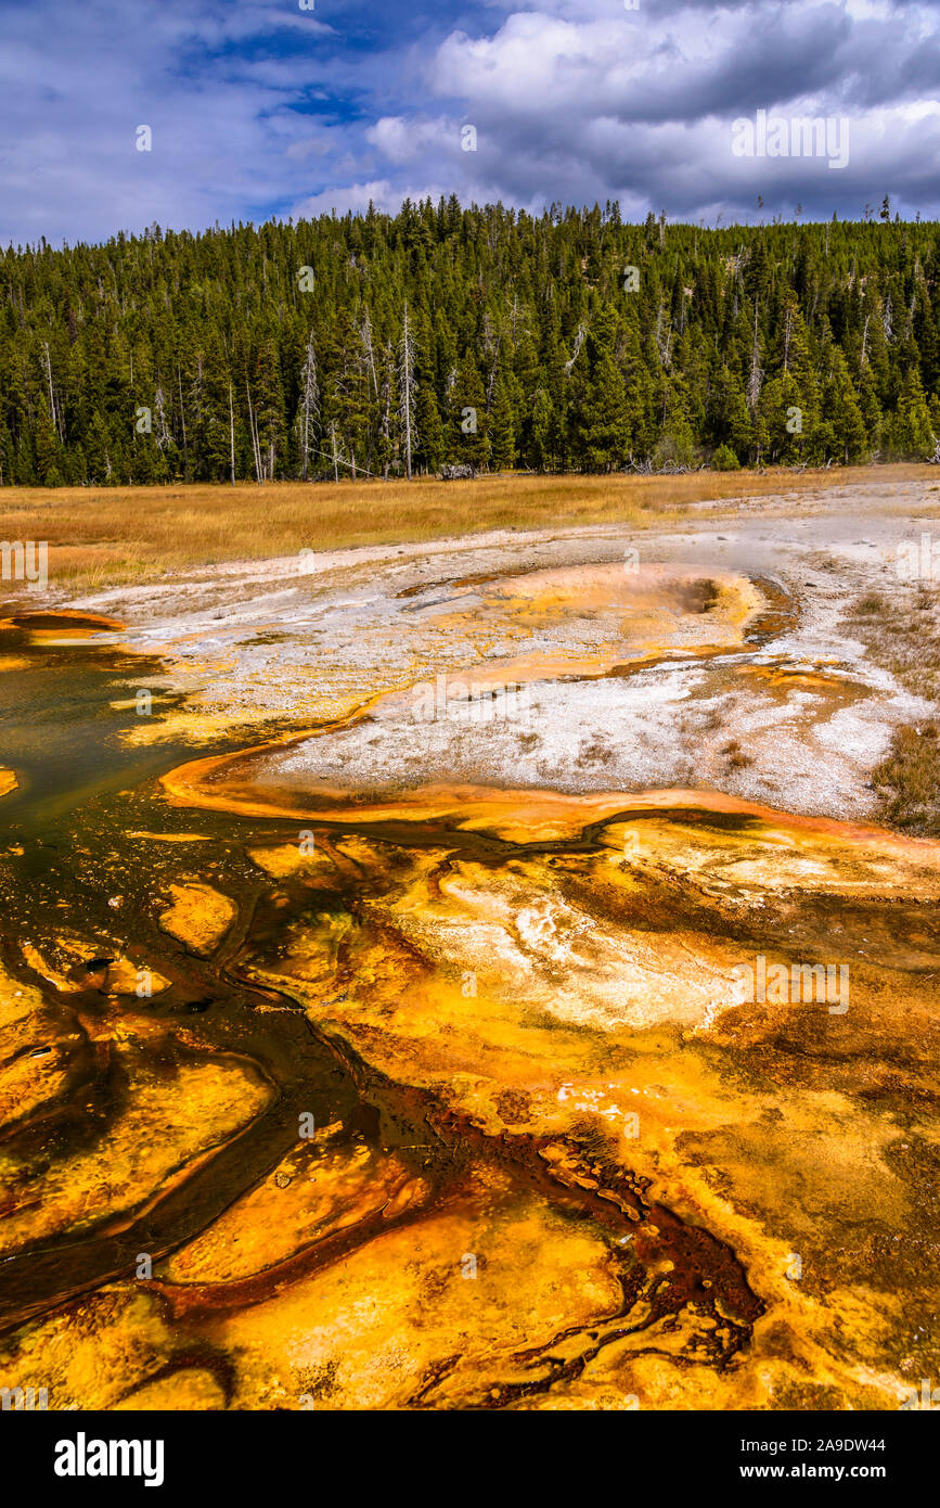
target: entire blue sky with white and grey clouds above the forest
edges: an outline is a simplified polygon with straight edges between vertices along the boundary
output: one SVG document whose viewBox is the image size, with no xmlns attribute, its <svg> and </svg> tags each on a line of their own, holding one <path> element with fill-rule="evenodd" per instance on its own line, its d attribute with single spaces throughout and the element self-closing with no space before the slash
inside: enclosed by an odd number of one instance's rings
<svg viewBox="0 0 940 1508">
<path fill-rule="evenodd" d="M 0 0 L 0 244 L 426 193 L 940 214 L 940 0 L 300 3 Z M 737 155 L 759 110 L 848 122 L 847 164 Z"/>
</svg>

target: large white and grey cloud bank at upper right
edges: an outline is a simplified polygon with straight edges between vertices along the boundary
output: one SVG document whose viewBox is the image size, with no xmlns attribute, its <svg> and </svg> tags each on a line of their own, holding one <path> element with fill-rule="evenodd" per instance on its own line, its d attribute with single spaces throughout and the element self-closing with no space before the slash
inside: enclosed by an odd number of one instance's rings
<svg viewBox="0 0 940 1508">
<path fill-rule="evenodd" d="M 937 213 L 935 12 L 889 0 L 720 6 L 663 0 L 615 15 L 597 0 L 502 6 L 496 27 L 447 36 L 431 93 L 462 103 L 478 152 L 458 163 L 529 208 L 619 198 L 711 219 L 765 213 L 860 214 L 890 193 L 902 213 Z M 732 125 L 756 112 L 847 122 L 848 160 L 732 152 Z M 407 118 L 396 121 L 407 139 Z M 414 176 L 417 152 L 410 154 Z M 381 145 L 381 143 L 378 143 Z M 426 157 L 431 172 L 438 152 Z"/>
</svg>

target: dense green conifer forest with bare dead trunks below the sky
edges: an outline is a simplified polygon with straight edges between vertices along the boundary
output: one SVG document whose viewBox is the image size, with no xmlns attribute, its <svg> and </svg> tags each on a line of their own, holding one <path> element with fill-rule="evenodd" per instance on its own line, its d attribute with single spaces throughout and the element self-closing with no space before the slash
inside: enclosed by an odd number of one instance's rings
<svg viewBox="0 0 940 1508">
<path fill-rule="evenodd" d="M 0 253 L 0 484 L 931 457 L 940 226 L 553 205 Z"/>
</svg>

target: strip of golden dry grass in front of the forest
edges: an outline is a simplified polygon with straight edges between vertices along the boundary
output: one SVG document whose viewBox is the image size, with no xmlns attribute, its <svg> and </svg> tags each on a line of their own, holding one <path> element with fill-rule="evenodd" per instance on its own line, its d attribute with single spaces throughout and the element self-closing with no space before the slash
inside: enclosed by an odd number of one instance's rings
<svg viewBox="0 0 940 1508">
<path fill-rule="evenodd" d="M 0 540 L 47 540 L 50 579 L 75 591 L 229 559 L 404 544 L 497 528 L 630 523 L 705 499 L 853 481 L 937 480 L 929 466 L 681 477 L 496 475 L 475 481 L 274 483 L 255 487 L 8 487 Z M 17 590 L 18 584 L 11 584 Z M 20 588 L 21 590 L 21 588 Z"/>
</svg>

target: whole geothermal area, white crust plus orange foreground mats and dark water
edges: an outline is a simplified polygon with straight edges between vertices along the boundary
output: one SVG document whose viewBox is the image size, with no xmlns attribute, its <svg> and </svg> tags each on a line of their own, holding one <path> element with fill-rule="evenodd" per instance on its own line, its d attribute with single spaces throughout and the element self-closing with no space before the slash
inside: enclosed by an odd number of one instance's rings
<svg viewBox="0 0 940 1508">
<path fill-rule="evenodd" d="M 0 1383 L 812 1410 L 934 1375 L 940 843 L 877 822 L 920 709 L 841 626 L 896 502 L 865 556 L 821 502 L 8 620 Z"/>
</svg>

